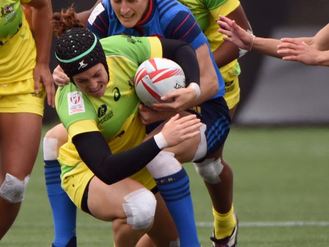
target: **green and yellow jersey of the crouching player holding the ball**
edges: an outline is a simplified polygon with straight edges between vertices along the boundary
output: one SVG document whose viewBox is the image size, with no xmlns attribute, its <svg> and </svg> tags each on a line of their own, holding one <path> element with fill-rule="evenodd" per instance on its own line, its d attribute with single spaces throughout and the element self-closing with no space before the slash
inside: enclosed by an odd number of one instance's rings
<svg viewBox="0 0 329 247">
<path fill-rule="evenodd" d="M 157 37 L 116 35 L 100 39 L 100 42 L 109 68 L 109 82 L 104 96 L 95 98 L 84 94 L 72 83 L 59 88 L 56 93 L 56 110 L 69 134 L 69 140 L 60 148 L 58 157 L 63 182 L 65 177 L 88 169 L 71 141 L 73 136 L 99 131 L 112 153 L 131 149 L 145 137 L 145 126 L 138 114 L 140 100 L 135 93 L 134 76 L 143 61 L 162 57 L 160 40 Z M 91 176 L 93 174 L 89 171 L 87 177 L 90 179 Z M 151 176 L 144 168 L 132 178 L 147 186 Z M 85 188 L 87 182 L 78 187 Z M 154 182 L 152 185 L 155 186 Z M 76 192 L 70 193 L 69 186 L 63 187 L 79 206 L 83 192 L 80 191 L 78 198 L 74 199 Z"/>
</svg>

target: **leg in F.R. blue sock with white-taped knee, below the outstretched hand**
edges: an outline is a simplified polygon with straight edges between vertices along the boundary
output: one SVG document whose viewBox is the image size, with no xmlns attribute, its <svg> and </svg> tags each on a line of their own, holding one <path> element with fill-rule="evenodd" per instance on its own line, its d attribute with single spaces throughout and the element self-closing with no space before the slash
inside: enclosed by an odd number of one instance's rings
<svg viewBox="0 0 329 247">
<path fill-rule="evenodd" d="M 182 113 L 182 115 L 184 114 L 188 113 Z M 149 136 L 157 131 L 158 128 Z M 200 136 L 197 136 L 175 147 L 162 150 L 146 166 L 155 179 L 159 192 L 175 221 L 182 247 L 200 246 L 194 220 L 189 178 L 181 166 L 181 162 L 193 159 L 199 141 Z"/>
</svg>

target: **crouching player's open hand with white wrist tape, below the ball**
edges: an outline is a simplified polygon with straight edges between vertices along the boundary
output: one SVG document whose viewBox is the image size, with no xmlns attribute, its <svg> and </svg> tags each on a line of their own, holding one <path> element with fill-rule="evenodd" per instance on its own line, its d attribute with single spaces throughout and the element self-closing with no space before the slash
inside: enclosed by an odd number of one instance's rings
<svg viewBox="0 0 329 247">
<path fill-rule="evenodd" d="M 176 114 L 165 123 L 161 133 L 166 139 L 168 146 L 172 147 L 199 135 L 201 126 L 200 119 L 194 114 L 181 118 L 179 114 Z"/>
</svg>

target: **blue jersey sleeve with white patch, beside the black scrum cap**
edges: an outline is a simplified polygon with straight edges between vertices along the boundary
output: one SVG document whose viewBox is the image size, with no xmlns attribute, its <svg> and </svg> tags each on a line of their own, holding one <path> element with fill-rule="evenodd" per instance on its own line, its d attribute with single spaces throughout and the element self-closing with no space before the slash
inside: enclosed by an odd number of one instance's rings
<svg viewBox="0 0 329 247">
<path fill-rule="evenodd" d="M 109 27 L 109 3 L 103 0 L 91 13 L 87 21 L 87 29 L 95 33 L 98 39 L 108 36 Z"/>
</svg>

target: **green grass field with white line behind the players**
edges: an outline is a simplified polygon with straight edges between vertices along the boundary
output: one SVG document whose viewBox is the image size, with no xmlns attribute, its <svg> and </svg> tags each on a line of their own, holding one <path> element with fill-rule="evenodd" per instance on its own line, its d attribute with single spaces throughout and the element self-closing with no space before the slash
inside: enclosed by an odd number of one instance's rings
<svg viewBox="0 0 329 247">
<path fill-rule="evenodd" d="M 234 172 L 240 247 L 329 246 L 328 148 L 328 128 L 232 128 L 224 153 Z M 185 168 L 199 239 L 209 247 L 211 202 L 191 164 Z M 51 245 L 43 172 L 40 151 L 20 214 L 1 246 Z M 81 212 L 77 222 L 78 246 L 112 246 L 109 223 Z"/>
</svg>

